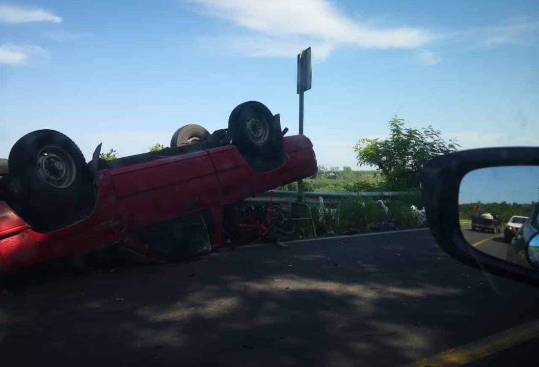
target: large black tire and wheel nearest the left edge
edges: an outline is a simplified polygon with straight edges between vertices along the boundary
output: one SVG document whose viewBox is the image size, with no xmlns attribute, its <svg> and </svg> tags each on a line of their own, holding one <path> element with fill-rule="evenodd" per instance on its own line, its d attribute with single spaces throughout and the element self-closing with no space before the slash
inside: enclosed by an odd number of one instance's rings
<svg viewBox="0 0 539 367">
<path fill-rule="evenodd" d="M 54 130 L 24 135 L 8 160 L 10 194 L 19 215 L 37 232 L 86 218 L 95 205 L 92 174 L 79 147 Z"/>
</svg>

